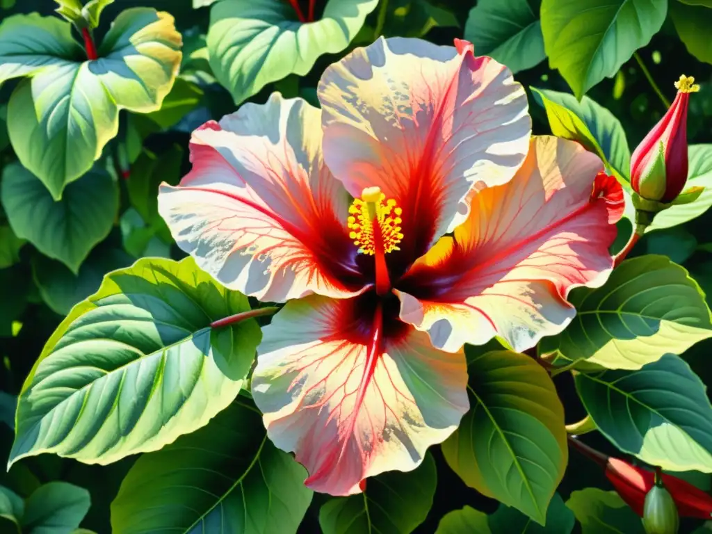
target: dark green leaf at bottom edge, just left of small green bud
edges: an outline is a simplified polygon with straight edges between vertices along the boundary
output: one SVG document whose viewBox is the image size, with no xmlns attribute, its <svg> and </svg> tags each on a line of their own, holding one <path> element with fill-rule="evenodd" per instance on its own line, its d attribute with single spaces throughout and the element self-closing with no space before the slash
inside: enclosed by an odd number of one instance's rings
<svg viewBox="0 0 712 534">
<path fill-rule="evenodd" d="M 581 523 L 582 534 L 644 534 L 640 518 L 615 491 L 572 491 L 566 506 Z"/>
</svg>

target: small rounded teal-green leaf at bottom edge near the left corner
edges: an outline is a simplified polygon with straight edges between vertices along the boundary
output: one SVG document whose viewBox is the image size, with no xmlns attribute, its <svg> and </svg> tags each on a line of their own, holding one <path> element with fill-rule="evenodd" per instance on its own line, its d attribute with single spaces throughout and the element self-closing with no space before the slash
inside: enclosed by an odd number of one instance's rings
<svg viewBox="0 0 712 534">
<path fill-rule="evenodd" d="M 67 534 L 89 511 L 89 492 L 66 482 L 37 488 L 25 503 L 22 531 L 28 534 Z"/>
</svg>

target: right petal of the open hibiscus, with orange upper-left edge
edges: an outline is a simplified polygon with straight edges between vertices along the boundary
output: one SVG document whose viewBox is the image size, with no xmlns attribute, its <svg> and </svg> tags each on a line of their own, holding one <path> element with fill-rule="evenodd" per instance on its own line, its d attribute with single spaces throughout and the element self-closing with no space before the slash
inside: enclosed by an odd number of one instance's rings
<svg viewBox="0 0 712 534">
<path fill-rule="evenodd" d="M 599 287 L 623 192 L 576 142 L 535 137 L 511 182 L 473 192 L 468 219 L 399 282 L 400 317 L 433 344 L 459 350 L 494 335 L 518 351 L 563 330 L 568 292 Z"/>
</svg>

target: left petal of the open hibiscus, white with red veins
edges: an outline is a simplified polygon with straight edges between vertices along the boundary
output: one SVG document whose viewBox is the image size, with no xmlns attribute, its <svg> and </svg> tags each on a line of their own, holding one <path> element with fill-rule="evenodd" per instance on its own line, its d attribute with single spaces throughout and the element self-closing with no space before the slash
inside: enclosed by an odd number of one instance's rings
<svg viewBox="0 0 712 534">
<path fill-rule="evenodd" d="M 225 286 L 283 302 L 343 297 L 365 282 L 347 192 L 321 154 L 320 110 L 273 94 L 193 132 L 193 169 L 162 184 L 159 212 L 178 246 Z"/>
</svg>

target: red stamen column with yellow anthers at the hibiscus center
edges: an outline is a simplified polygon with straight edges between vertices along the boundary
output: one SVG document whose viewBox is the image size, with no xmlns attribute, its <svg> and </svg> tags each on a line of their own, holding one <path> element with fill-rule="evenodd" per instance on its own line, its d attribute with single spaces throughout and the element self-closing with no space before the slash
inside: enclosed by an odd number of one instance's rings
<svg viewBox="0 0 712 534">
<path fill-rule="evenodd" d="M 374 256 L 376 293 L 379 295 L 385 295 L 391 289 L 385 254 L 400 250 L 402 212 L 394 199 L 386 200 L 379 187 L 367 187 L 361 192 L 361 198 L 354 199 L 349 206 L 349 237 L 360 253 Z"/>
</svg>

